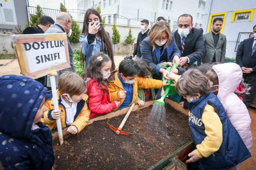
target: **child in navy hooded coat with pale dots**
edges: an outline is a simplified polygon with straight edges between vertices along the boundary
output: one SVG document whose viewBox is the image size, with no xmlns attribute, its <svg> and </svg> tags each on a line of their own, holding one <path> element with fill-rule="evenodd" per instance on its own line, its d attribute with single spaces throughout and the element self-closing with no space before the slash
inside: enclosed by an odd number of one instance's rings
<svg viewBox="0 0 256 170">
<path fill-rule="evenodd" d="M 0 77 L 0 169 L 52 169 L 52 133 L 40 122 L 46 91 L 28 77 Z"/>
</svg>

